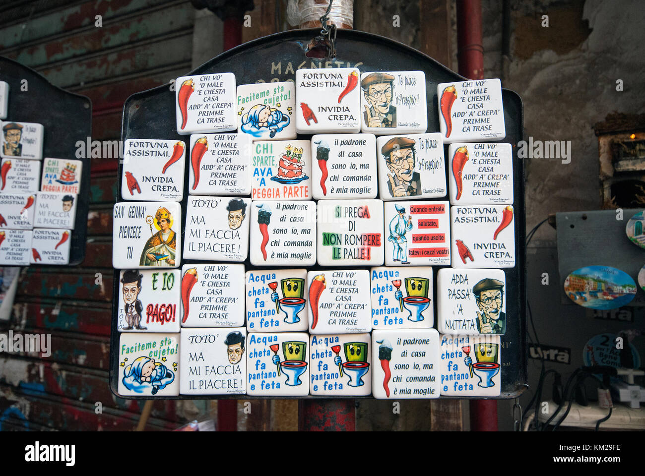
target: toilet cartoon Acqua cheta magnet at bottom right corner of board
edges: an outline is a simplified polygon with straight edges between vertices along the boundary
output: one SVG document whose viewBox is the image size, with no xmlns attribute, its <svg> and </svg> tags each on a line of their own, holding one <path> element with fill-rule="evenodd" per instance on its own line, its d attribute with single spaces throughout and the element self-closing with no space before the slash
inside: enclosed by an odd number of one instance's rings
<svg viewBox="0 0 645 476">
<path fill-rule="evenodd" d="M 440 335 L 441 395 L 499 397 L 499 335 Z"/>
</svg>

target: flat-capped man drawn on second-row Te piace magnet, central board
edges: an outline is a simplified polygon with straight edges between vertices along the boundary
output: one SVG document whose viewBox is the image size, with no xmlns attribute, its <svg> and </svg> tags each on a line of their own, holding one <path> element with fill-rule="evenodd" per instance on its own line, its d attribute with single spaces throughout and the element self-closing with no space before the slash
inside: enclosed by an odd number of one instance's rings
<svg viewBox="0 0 645 476">
<path fill-rule="evenodd" d="M 381 154 L 392 174 L 388 174 L 388 188 L 392 197 L 421 195 L 419 172 L 414 171 L 415 141 L 408 137 L 392 137 L 381 147 Z"/>
</svg>

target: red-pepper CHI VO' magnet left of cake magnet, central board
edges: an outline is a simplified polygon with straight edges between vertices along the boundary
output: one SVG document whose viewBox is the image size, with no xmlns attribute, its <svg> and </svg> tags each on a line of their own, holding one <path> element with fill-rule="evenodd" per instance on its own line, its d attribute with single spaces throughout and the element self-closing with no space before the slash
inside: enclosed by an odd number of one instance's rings
<svg viewBox="0 0 645 476">
<path fill-rule="evenodd" d="M 190 195 L 250 195 L 251 138 L 246 134 L 190 136 Z"/>
</svg>

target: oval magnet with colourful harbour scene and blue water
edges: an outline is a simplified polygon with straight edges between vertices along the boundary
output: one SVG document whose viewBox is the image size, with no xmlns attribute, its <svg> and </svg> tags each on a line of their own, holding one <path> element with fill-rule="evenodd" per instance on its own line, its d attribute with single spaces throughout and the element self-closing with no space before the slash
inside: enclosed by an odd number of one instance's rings
<svg viewBox="0 0 645 476">
<path fill-rule="evenodd" d="M 585 308 L 615 309 L 636 296 L 636 283 L 628 273 L 611 266 L 584 266 L 564 279 L 564 293 Z"/>
</svg>

